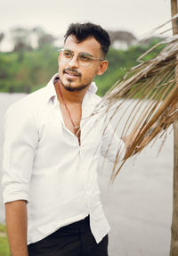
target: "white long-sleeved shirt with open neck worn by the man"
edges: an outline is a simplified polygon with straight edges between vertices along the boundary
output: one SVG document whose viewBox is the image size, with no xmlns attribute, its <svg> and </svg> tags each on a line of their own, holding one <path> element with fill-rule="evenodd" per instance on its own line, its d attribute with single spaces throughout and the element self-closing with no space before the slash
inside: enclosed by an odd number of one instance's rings
<svg viewBox="0 0 178 256">
<path fill-rule="evenodd" d="M 4 117 L 3 195 L 4 203 L 28 202 L 28 244 L 35 243 L 90 215 L 97 243 L 109 232 L 102 210 L 97 182 L 97 163 L 113 136 L 99 114 L 88 117 L 101 101 L 94 83 L 82 103 L 81 145 L 65 127 L 57 100 L 54 78 L 48 85 L 25 96 Z M 122 140 L 114 137 L 109 161 L 125 155 Z"/>
</svg>

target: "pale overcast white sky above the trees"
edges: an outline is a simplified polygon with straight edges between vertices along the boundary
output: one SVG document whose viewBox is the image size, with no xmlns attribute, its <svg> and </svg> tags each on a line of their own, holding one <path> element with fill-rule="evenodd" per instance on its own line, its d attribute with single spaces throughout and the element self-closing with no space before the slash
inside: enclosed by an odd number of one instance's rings
<svg viewBox="0 0 178 256">
<path fill-rule="evenodd" d="M 72 22 L 92 21 L 104 29 L 127 30 L 136 37 L 171 18 L 170 0 L 0 0 L 3 49 L 10 45 L 8 31 L 16 27 L 44 31 L 59 37 Z"/>
</svg>

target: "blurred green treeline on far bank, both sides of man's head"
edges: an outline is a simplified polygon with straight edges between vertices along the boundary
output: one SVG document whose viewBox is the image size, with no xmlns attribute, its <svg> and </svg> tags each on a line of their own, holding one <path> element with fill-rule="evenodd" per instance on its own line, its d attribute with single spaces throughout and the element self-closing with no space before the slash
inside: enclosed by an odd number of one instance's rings
<svg viewBox="0 0 178 256">
<path fill-rule="evenodd" d="M 109 68 L 95 81 L 99 87 L 99 95 L 104 95 L 117 79 L 122 78 L 129 68 L 137 64 L 136 59 L 160 41 L 152 38 L 149 44 L 129 46 L 127 50 L 110 48 L 107 59 Z M 145 58 L 158 54 L 160 48 L 151 52 Z M 22 48 L 11 53 L 0 53 L 0 92 L 36 91 L 44 87 L 48 80 L 58 71 L 57 48 L 51 44 L 42 44 L 36 49 Z"/>
</svg>

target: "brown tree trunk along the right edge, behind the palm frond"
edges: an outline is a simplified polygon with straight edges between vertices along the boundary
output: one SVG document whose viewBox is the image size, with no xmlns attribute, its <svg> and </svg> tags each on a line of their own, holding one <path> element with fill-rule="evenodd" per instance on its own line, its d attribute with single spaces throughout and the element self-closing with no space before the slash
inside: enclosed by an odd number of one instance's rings
<svg viewBox="0 0 178 256">
<path fill-rule="evenodd" d="M 177 13 L 177 11 L 177 0 L 171 0 L 172 17 Z M 178 19 L 173 21 L 173 34 L 178 34 Z M 178 65 L 175 69 L 175 74 L 175 81 L 178 83 Z M 171 250 L 169 256 L 178 256 L 178 120 L 174 121 L 173 220 L 171 226 Z"/>
</svg>

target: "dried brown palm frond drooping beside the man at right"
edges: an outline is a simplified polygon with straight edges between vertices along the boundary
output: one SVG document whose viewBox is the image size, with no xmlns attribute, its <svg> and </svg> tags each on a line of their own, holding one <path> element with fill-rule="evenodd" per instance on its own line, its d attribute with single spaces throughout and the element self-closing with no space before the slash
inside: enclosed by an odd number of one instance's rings
<svg viewBox="0 0 178 256">
<path fill-rule="evenodd" d="M 116 156 L 112 179 L 116 178 L 127 158 L 141 152 L 159 135 L 166 135 L 167 128 L 178 119 L 178 83 L 176 82 L 178 81 L 178 36 L 168 37 L 158 45 L 160 44 L 166 44 L 164 49 L 155 58 L 129 70 L 126 76 L 102 98 L 94 111 L 94 113 L 103 111 L 108 114 L 112 110 L 110 121 L 118 116 L 125 99 L 131 100 L 129 106 L 131 111 L 122 136 L 129 136 L 129 141 L 132 143 L 125 160 L 117 170 Z M 158 45 L 143 54 L 139 61 Z M 127 111 L 128 109 L 123 115 L 126 115 Z"/>
</svg>

